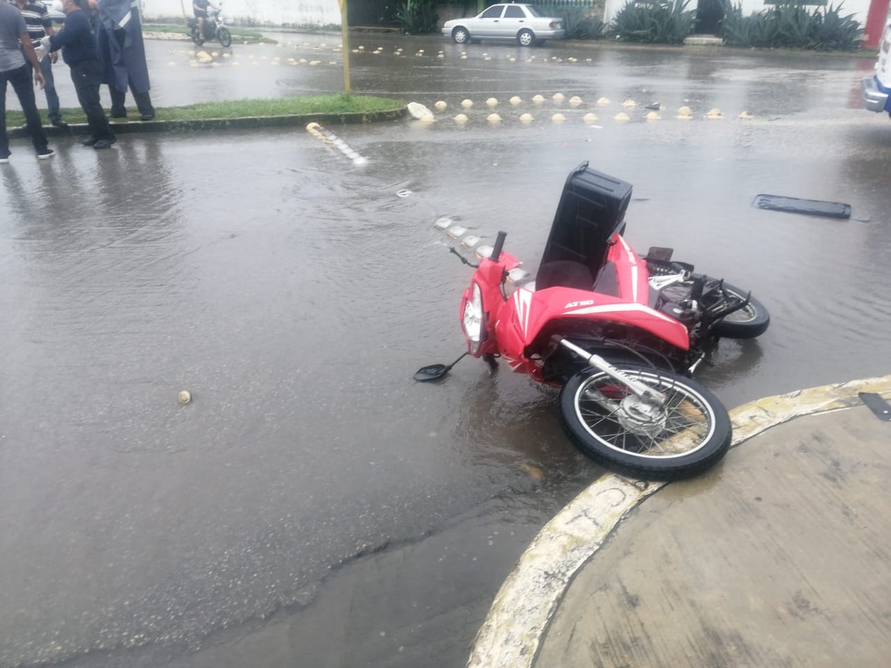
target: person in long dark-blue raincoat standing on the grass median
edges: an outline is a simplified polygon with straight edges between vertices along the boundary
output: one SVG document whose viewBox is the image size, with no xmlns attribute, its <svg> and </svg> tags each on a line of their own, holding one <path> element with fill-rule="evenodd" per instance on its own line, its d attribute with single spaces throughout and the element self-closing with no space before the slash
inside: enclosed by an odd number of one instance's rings
<svg viewBox="0 0 891 668">
<path fill-rule="evenodd" d="M 143 25 L 138 0 L 88 0 L 94 10 L 94 31 L 111 94 L 111 118 L 127 118 L 127 88 L 142 120 L 155 118 L 151 106 L 149 67 L 145 62 Z"/>
</svg>

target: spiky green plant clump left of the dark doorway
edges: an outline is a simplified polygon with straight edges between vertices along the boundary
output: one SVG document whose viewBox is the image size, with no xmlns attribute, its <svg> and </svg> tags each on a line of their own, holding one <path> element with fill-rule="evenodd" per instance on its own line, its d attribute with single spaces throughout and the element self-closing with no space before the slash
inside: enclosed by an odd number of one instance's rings
<svg viewBox="0 0 891 668">
<path fill-rule="evenodd" d="M 690 0 L 640 4 L 630 0 L 617 12 L 612 32 L 625 42 L 682 44 L 696 24 L 696 12 L 688 12 L 688 4 Z"/>
</svg>

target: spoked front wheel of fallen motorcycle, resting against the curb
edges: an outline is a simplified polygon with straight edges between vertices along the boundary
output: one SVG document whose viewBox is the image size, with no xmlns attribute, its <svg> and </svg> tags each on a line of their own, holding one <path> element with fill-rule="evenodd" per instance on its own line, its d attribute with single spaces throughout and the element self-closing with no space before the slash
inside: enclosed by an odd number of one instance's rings
<svg viewBox="0 0 891 668">
<path fill-rule="evenodd" d="M 662 407 L 644 404 L 605 372 L 579 371 L 560 390 L 560 421 L 579 450 L 606 468 L 644 480 L 695 476 L 723 458 L 732 426 L 715 395 L 670 371 L 615 366 L 667 401 Z"/>
</svg>

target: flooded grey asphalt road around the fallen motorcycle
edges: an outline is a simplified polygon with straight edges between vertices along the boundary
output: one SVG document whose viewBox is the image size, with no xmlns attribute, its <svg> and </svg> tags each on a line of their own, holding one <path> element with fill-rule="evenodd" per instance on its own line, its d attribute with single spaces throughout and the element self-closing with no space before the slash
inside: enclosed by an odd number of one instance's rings
<svg viewBox="0 0 891 668">
<path fill-rule="evenodd" d="M 149 42 L 154 102 L 339 89 L 339 38 L 282 42 L 216 67 Z M 433 124 L 331 127 L 365 166 L 302 129 L 122 134 L 102 152 L 62 138 L 46 163 L 13 143 L 0 666 L 462 664 L 514 559 L 600 471 L 551 390 L 472 360 L 413 384 L 462 351 L 470 272 L 433 222 L 504 229 L 534 266 L 582 160 L 634 183 L 635 247 L 674 246 L 771 310 L 699 375 L 728 406 L 887 373 L 891 120 L 859 108 L 870 61 L 352 45 L 354 92 L 449 104 Z M 643 119 L 650 102 L 663 118 Z M 763 192 L 854 217 L 752 208 Z"/>
</svg>

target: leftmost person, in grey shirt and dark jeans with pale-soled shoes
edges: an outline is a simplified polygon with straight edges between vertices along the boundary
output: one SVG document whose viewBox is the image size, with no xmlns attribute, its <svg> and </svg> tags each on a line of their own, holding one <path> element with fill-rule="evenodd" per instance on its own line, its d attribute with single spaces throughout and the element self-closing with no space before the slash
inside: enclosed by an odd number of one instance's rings
<svg viewBox="0 0 891 668">
<path fill-rule="evenodd" d="M 31 135 L 31 143 L 37 151 L 37 158 L 45 159 L 53 156 L 53 150 L 46 141 L 44 126 L 40 122 L 40 112 L 37 111 L 37 102 L 34 101 L 34 87 L 31 79 L 31 69 L 34 71 L 34 81 L 44 86 L 44 75 L 40 71 L 40 61 L 28 36 L 28 28 L 21 12 L 9 3 L 0 2 L 0 163 L 9 162 L 9 135 L 6 134 L 6 83 L 12 84 L 12 89 L 19 98 L 21 110 L 25 112 L 25 120 L 28 134 Z"/>
</svg>

